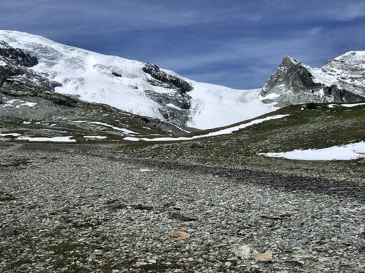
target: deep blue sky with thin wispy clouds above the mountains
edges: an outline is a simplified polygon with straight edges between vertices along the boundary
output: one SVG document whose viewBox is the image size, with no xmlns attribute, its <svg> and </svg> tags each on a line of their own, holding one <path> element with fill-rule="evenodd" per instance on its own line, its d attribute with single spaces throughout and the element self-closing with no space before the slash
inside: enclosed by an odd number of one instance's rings
<svg viewBox="0 0 365 273">
<path fill-rule="evenodd" d="M 2 0 L 0 29 L 262 87 L 285 55 L 321 67 L 365 50 L 364 0 Z"/>
</svg>

